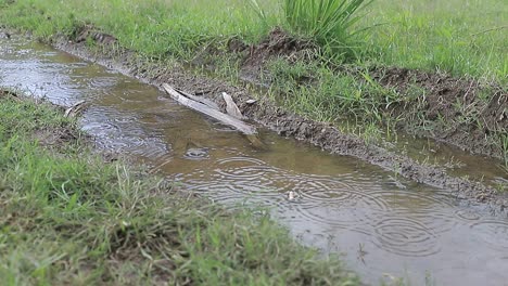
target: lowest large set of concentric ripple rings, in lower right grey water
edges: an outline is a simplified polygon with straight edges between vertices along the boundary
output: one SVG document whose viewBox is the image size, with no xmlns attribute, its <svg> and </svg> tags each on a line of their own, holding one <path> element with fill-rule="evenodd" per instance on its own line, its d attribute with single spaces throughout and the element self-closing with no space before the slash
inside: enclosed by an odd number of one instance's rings
<svg viewBox="0 0 508 286">
<path fill-rule="evenodd" d="M 426 257 L 441 248 L 434 233 L 426 224 L 407 218 L 378 221 L 373 244 L 389 252 L 407 257 Z"/>
</svg>

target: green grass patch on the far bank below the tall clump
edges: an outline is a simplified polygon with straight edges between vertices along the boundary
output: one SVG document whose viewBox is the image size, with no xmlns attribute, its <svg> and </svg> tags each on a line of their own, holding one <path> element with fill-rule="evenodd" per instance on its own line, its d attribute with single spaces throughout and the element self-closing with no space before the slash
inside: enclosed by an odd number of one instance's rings
<svg viewBox="0 0 508 286">
<path fill-rule="evenodd" d="M 284 105 L 292 109 L 308 114 L 320 121 L 334 121 L 353 117 L 355 121 L 361 118 L 380 120 L 381 106 L 394 104 L 404 99 L 399 94 L 384 89 L 370 80 L 359 81 L 356 77 L 330 70 L 315 63 L 290 64 L 284 60 L 271 62 L 268 69 L 274 75 L 275 89 L 287 94 Z M 302 80 L 315 81 L 317 84 L 301 84 Z M 343 110 L 348 110 L 341 116 Z"/>
</svg>

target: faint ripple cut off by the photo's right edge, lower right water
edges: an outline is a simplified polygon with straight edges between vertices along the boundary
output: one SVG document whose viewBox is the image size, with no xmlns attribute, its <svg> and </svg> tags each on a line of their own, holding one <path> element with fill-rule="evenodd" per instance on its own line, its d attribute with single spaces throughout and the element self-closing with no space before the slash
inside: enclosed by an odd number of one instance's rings
<svg viewBox="0 0 508 286">
<path fill-rule="evenodd" d="M 508 250 L 508 222 L 487 220 L 471 224 L 475 235 L 496 249 Z"/>
</svg>

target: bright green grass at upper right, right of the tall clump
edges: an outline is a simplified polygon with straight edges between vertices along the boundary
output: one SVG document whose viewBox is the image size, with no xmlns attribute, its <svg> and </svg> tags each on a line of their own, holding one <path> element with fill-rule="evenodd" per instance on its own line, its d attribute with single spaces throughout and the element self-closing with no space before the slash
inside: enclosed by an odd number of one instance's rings
<svg viewBox="0 0 508 286">
<path fill-rule="evenodd" d="M 508 83 L 504 0 L 389 1 L 370 6 L 369 56 L 382 65 L 446 72 Z"/>
</svg>

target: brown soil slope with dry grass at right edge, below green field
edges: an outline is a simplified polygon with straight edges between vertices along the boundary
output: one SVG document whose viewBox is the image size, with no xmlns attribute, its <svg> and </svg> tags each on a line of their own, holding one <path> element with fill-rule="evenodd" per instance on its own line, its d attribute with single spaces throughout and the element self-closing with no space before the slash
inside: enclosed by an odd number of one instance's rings
<svg viewBox="0 0 508 286">
<path fill-rule="evenodd" d="M 503 157 L 498 144 L 486 140 L 492 134 L 508 134 L 508 90 L 494 83 L 474 79 L 453 78 L 406 68 L 372 70 L 374 79 L 399 94 L 417 88 L 424 94 L 418 109 L 432 123 L 431 129 L 399 127 L 411 133 L 443 141 L 473 154 Z M 395 106 L 394 115 L 407 112 L 407 106 Z"/>
</svg>

